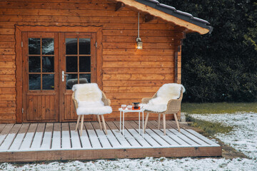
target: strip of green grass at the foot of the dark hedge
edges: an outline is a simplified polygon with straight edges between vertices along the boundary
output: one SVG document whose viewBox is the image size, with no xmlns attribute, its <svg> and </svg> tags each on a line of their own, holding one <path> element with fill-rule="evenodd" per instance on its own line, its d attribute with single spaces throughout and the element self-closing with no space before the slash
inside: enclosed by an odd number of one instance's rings
<svg viewBox="0 0 257 171">
<path fill-rule="evenodd" d="M 257 103 L 181 103 L 181 112 L 190 114 L 257 112 Z"/>
</svg>

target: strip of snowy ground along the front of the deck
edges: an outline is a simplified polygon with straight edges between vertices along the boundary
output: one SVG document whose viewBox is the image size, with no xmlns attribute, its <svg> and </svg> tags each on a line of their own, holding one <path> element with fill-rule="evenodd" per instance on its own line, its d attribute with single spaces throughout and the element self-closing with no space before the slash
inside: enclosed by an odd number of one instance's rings
<svg viewBox="0 0 257 171">
<path fill-rule="evenodd" d="M 154 159 L 147 157 L 139 160 L 97 160 L 96 162 L 51 162 L 48 165 L 24 165 L 16 167 L 8 163 L 1 165 L 0 170 L 106 170 L 106 171 L 123 171 L 123 170 L 257 170 L 256 161 L 236 158 L 226 160 L 224 158 L 206 158 L 206 159 L 167 159 L 165 157 Z"/>
</svg>

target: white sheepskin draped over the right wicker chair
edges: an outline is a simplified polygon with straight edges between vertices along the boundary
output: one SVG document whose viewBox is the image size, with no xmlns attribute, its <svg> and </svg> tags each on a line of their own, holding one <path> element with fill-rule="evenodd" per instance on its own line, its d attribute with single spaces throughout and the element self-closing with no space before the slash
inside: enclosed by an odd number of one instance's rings
<svg viewBox="0 0 257 171">
<path fill-rule="evenodd" d="M 162 113 L 167 110 L 168 101 L 171 99 L 178 99 L 181 94 L 181 88 L 183 93 L 186 89 L 177 83 L 167 83 L 161 86 L 157 91 L 157 97 L 152 98 L 147 104 L 142 104 L 142 108 L 150 110 L 156 113 Z"/>
</svg>

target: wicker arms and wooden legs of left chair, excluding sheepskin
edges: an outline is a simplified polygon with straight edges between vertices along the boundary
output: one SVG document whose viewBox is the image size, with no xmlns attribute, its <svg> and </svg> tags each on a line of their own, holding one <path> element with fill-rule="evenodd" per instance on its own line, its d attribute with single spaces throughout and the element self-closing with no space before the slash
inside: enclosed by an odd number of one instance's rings
<svg viewBox="0 0 257 171">
<path fill-rule="evenodd" d="M 104 94 L 103 91 L 101 91 L 101 93 L 102 93 L 102 98 L 101 98 L 101 100 L 104 102 L 104 105 L 110 106 L 110 105 L 111 105 L 111 100 L 108 99 L 108 98 L 106 98 L 106 95 Z M 74 91 L 74 93 L 72 93 L 72 100 L 74 101 L 74 107 L 75 107 L 75 109 L 77 109 L 77 108 L 79 107 L 79 105 L 78 105 L 77 100 L 75 99 L 75 91 Z M 76 110 L 75 110 L 75 113 L 76 113 Z M 94 115 L 94 113 L 92 113 L 92 115 Z M 98 119 L 98 121 L 99 121 L 100 129 L 102 130 L 100 116 L 99 116 L 99 115 L 96 115 L 96 116 L 97 116 L 97 119 Z M 82 135 L 82 129 L 83 129 L 83 125 L 84 125 L 84 115 L 82 115 L 82 117 L 81 117 L 81 115 L 78 115 L 78 120 L 77 120 L 77 122 L 76 122 L 76 128 L 75 128 L 75 130 L 78 129 L 79 120 L 80 120 L 80 119 L 81 119 L 80 135 Z M 106 130 L 106 124 L 105 124 L 105 120 L 104 120 L 104 115 L 101 115 L 101 119 L 102 119 L 102 122 L 103 122 L 103 125 L 104 125 L 104 133 L 106 133 L 106 135 L 107 135 L 107 130 Z"/>
</svg>

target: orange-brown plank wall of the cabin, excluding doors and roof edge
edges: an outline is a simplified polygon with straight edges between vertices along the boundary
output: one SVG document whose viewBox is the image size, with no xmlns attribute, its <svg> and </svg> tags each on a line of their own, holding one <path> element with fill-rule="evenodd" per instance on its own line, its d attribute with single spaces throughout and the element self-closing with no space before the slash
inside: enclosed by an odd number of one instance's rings
<svg viewBox="0 0 257 171">
<path fill-rule="evenodd" d="M 0 123 L 16 122 L 15 25 L 102 26 L 103 90 L 114 110 L 106 120 L 119 118 L 121 104 L 141 102 L 164 83 L 175 81 L 174 26 L 155 19 L 143 22 L 143 49 L 136 49 L 138 12 L 115 11 L 107 0 L 0 1 Z M 181 53 L 176 60 L 176 81 L 181 80 Z M 126 119 L 136 119 L 131 114 Z"/>
</svg>

